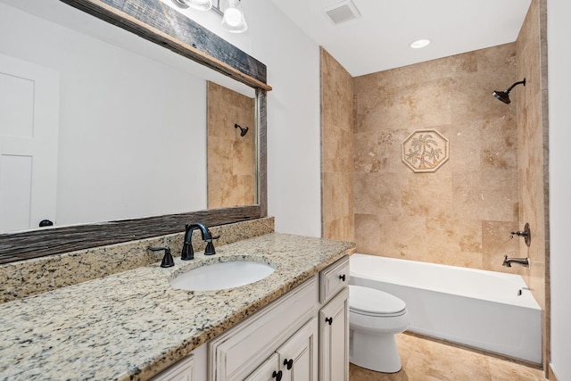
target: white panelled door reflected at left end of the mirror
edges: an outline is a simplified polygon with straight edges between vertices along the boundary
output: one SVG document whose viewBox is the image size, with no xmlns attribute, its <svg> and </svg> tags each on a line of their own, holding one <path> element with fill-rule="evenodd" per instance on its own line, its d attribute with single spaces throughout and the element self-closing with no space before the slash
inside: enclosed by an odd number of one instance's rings
<svg viewBox="0 0 571 381">
<path fill-rule="evenodd" d="M 55 222 L 59 73 L 0 54 L 0 232 Z"/>
</svg>

